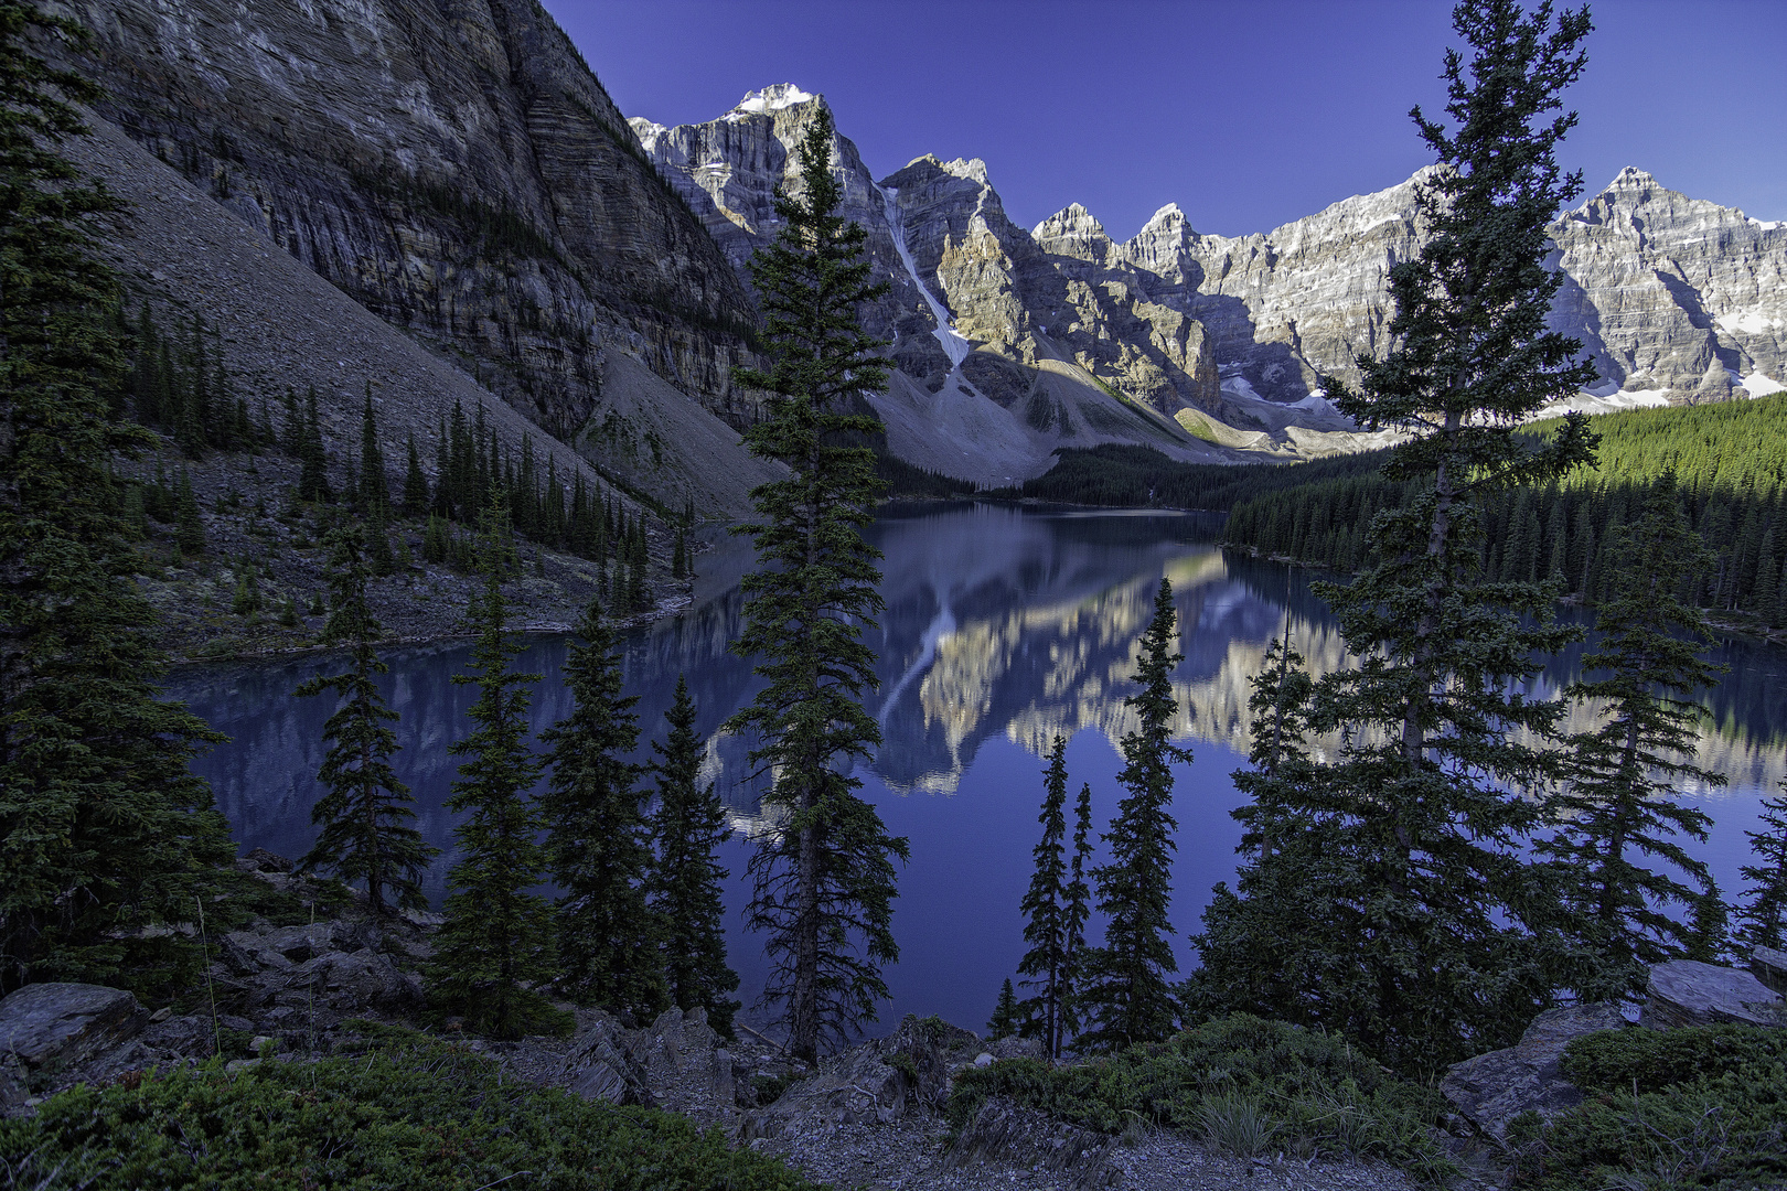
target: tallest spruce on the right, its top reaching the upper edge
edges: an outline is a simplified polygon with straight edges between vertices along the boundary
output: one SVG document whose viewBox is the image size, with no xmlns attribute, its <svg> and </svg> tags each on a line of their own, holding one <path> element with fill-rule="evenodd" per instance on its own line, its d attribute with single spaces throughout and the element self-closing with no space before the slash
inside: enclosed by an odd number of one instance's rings
<svg viewBox="0 0 1787 1191">
<path fill-rule="evenodd" d="M 1390 271 L 1388 350 L 1360 357 L 1358 391 L 1328 380 L 1346 414 L 1410 436 L 1383 470 L 1408 496 L 1372 525 L 1376 564 L 1319 587 L 1358 666 L 1317 684 L 1310 721 L 1342 743 L 1283 795 L 1301 843 L 1249 857 L 1301 911 L 1240 907 L 1301 923 L 1274 943 L 1297 982 L 1254 989 L 1276 1016 L 1338 1029 L 1406 1071 L 1512 1043 L 1585 962 L 1524 852 L 1564 711 L 1524 691 L 1578 634 L 1551 621 L 1555 582 L 1485 584 L 1480 568 L 1485 498 L 1592 457 L 1578 414 L 1544 441 L 1519 432 L 1594 380 L 1581 345 L 1546 330 L 1560 284 L 1546 227 L 1581 189 L 1555 159 L 1574 114 L 1553 112 L 1583 68 L 1589 16 L 1467 0 L 1453 27 L 1471 46 L 1446 55 L 1455 127 L 1412 112 L 1439 168 L 1417 189 L 1421 255 Z M 1246 948 L 1265 934 L 1210 932 L 1210 979 L 1246 984 Z"/>
</svg>

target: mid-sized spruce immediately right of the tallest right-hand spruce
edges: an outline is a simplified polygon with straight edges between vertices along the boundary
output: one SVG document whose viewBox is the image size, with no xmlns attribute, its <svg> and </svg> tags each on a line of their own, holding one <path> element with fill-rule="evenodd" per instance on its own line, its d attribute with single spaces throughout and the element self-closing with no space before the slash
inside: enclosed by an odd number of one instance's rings
<svg viewBox="0 0 1787 1191">
<path fill-rule="evenodd" d="M 1691 761 L 1703 716 L 1692 696 L 1717 671 L 1699 655 L 1712 643 L 1705 616 L 1676 595 L 1710 552 L 1687 525 L 1674 475 L 1651 486 L 1642 516 L 1615 530 L 1608 550 L 1614 598 L 1598 618 L 1599 648 L 1581 659 L 1585 673 L 1603 677 L 1564 691 L 1596 700 L 1601 723 L 1571 739 L 1567 786 L 1551 804 L 1558 827 L 1539 845 L 1569 889 L 1580 941 L 1603 959 L 1578 980 L 1592 1000 L 1637 996 L 1649 964 L 1685 954 L 1692 929 L 1669 907 L 1692 911 L 1712 875 L 1676 836 L 1705 841 L 1712 820 L 1674 791 L 1683 779 L 1724 784 Z"/>
</svg>

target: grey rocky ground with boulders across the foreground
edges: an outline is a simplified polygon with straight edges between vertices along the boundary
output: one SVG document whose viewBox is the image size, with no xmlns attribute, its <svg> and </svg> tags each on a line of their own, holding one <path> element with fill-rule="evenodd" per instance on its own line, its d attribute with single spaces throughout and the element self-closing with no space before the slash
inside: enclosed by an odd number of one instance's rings
<svg viewBox="0 0 1787 1191">
<path fill-rule="evenodd" d="M 315 921 L 266 918 L 206 934 L 204 987 L 157 1012 L 130 993 L 89 984 L 34 984 L 0 1002 L 0 1112 L 30 1112 L 77 1082 L 138 1079 L 155 1066 L 214 1054 L 236 1070 L 256 1062 L 363 1054 L 386 1027 L 420 1020 L 420 961 L 438 918 L 372 920 L 334 882 L 291 873 L 289 861 L 256 850 L 236 862 L 250 886 L 236 898 L 309 907 Z M 1678 961 L 1651 973 L 1644 1023 L 1787 1023 L 1776 989 L 1787 955 L 1758 955 L 1758 975 Z M 568 1009 L 568 1005 L 566 1005 Z M 1624 1023 L 1607 1005 L 1542 1014 L 1517 1046 L 1478 1055 L 1440 1084 L 1456 1116 L 1446 1146 L 1465 1171 L 1456 1191 L 1503 1184 L 1496 1137 L 1519 1111 L 1556 1112 L 1581 1093 L 1558 1073 L 1564 1045 Z M 445 1023 L 454 1034 L 454 1023 Z M 1328 1154 L 1242 1161 L 1170 1130 L 1108 1136 L 1004 1098 L 990 1098 L 952 1130 L 944 1118 L 952 1080 L 970 1066 L 1035 1054 L 1028 1039 L 983 1041 L 935 1018 L 908 1016 L 810 1070 L 749 1025 L 724 1039 L 701 1011 L 670 1009 L 634 1023 L 575 1009 L 568 1037 L 515 1043 L 466 1039 L 518 1079 L 681 1112 L 740 1146 L 784 1157 L 811 1179 L 863 1191 L 1412 1191 L 1410 1175 L 1383 1162 Z"/>
</svg>

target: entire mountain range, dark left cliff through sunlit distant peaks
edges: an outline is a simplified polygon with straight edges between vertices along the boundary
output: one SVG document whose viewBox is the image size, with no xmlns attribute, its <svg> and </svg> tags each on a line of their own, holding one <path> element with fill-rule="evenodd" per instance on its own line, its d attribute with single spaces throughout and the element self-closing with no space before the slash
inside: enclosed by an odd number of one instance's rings
<svg viewBox="0 0 1787 1191">
<path fill-rule="evenodd" d="M 745 264 L 776 234 L 776 189 L 799 195 L 793 146 L 824 96 L 779 84 L 708 123 L 627 120 L 534 0 L 66 7 L 95 36 L 46 50 L 107 86 L 95 120 L 118 154 L 132 143 L 130 186 L 207 198 L 238 248 L 329 282 L 391 352 L 456 368 L 515 425 L 667 505 L 738 512 L 770 473 L 736 441 L 756 414 L 731 380 L 758 350 Z M 1421 250 L 1421 175 L 1240 237 L 1169 204 L 1119 243 L 1079 205 L 1017 227 L 981 161 L 926 155 L 876 180 L 845 136 L 831 150 L 890 282 L 863 316 L 892 343 L 870 400 L 901 459 L 1004 484 L 1061 446 L 1215 462 L 1383 441 L 1321 377 L 1355 380 L 1355 357 L 1385 346 L 1388 268 Z M 1553 325 L 1601 377 L 1573 405 L 1783 387 L 1787 227 L 1626 170 L 1551 232 Z M 114 241 L 132 300 L 218 316 L 202 237 L 145 245 L 125 225 Z M 282 284 L 238 280 L 229 318 L 275 318 Z M 232 366 L 316 384 L 347 443 L 366 370 L 254 352 Z M 431 459 L 434 420 L 415 423 Z"/>
</svg>

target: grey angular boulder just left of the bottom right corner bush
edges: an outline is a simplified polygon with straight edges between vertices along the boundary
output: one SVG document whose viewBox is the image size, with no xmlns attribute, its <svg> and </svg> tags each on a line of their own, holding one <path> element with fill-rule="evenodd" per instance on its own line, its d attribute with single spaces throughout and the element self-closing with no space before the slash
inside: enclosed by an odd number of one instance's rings
<svg viewBox="0 0 1787 1191">
<path fill-rule="evenodd" d="M 1619 1005 L 1560 1005 L 1548 1009 L 1526 1027 L 1521 1041 L 1506 1050 L 1465 1059 L 1446 1071 L 1440 1095 L 1453 1107 L 1501 1141 L 1508 1121 L 1526 1111 L 1544 1118 L 1581 1104 L 1581 1091 L 1564 1079 L 1558 1062 L 1573 1037 L 1617 1030 L 1626 1025 Z"/>
</svg>

